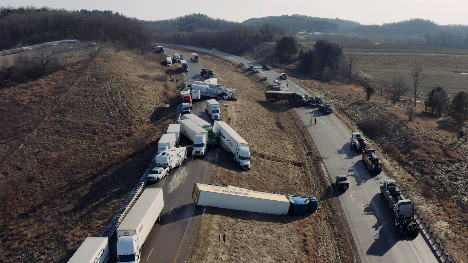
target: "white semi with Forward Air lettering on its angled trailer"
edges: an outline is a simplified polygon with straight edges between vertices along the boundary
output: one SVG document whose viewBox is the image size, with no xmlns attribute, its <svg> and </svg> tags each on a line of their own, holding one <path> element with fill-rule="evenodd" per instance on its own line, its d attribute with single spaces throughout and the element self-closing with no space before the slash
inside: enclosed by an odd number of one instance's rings
<svg viewBox="0 0 468 263">
<path fill-rule="evenodd" d="M 250 169 L 249 143 L 225 122 L 214 121 L 213 131 L 219 144 L 233 155 L 234 161 L 239 163 L 241 168 Z"/>
</svg>

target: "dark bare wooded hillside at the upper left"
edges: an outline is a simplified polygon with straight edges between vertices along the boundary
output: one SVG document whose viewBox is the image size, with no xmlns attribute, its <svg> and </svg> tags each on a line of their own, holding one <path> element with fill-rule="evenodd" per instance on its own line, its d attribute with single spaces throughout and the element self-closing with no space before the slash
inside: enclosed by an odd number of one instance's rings
<svg viewBox="0 0 468 263">
<path fill-rule="evenodd" d="M 67 11 L 43 7 L 0 7 L 0 50 L 80 38 L 113 41 L 147 50 L 151 32 L 135 19 L 112 11 Z"/>
</svg>

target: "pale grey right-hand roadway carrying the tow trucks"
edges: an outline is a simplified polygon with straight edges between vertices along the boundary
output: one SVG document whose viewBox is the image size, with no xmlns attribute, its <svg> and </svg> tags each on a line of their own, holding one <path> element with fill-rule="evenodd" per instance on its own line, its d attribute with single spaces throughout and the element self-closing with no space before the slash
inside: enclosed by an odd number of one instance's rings
<svg viewBox="0 0 468 263">
<path fill-rule="evenodd" d="M 212 53 L 207 49 L 181 46 L 195 52 Z M 237 65 L 244 62 L 246 68 L 249 65 L 258 66 L 259 77 L 267 76 L 269 84 L 272 84 L 273 80 L 280 80 L 284 91 L 311 95 L 291 80 L 281 80 L 278 72 L 274 70 L 263 70 L 257 63 L 224 52 L 215 51 L 215 55 Z M 203 57 L 204 54 L 201 54 L 200 61 L 202 62 Z M 341 192 L 334 189 L 348 222 L 360 262 L 439 262 L 437 255 L 432 252 L 421 234 L 408 238 L 398 234 L 393 214 L 380 196 L 380 181 L 388 176 L 384 172 L 379 175 L 371 175 L 367 172 L 360 161 L 360 155 L 353 152 L 349 146 L 351 131 L 346 125 L 333 113 L 325 115 L 314 106 L 294 107 L 293 109 L 300 117 L 302 124 L 307 126 L 307 131 L 314 140 L 318 153 L 323 157 L 330 180 L 335 182 L 336 175 L 350 175 L 348 177 L 349 190 Z M 317 124 L 309 125 L 311 118 L 317 118 Z"/>
</svg>

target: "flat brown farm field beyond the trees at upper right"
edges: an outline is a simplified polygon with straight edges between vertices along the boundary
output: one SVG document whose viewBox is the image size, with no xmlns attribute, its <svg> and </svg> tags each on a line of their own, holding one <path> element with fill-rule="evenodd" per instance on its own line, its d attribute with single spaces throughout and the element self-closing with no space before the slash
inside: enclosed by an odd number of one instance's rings
<svg viewBox="0 0 468 263">
<path fill-rule="evenodd" d="M 308 50 L 314 43 L 303 43 Z M 451 96 L 468 91 L 468 50 L 382 45 L 338 43 L 345 55 L 353 54 L 358 70 L 391 82 L 393 76 L 402 76 L 411 84 L 411 70 L 416 65 L 423 66 L 424 80 L 421 93 L 429 93 L 432 88 L 443 87 Z M 412 87 L 410 87 L 412 88 Z"/>
</svg>

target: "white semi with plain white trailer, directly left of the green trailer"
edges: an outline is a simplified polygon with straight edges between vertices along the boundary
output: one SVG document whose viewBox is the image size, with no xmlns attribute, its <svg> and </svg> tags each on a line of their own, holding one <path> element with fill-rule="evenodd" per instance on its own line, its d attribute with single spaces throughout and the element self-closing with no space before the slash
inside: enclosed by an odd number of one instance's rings
<svg viewBox="0 0 468 263">
<path fill-rule="evenodd" d="M 179 121 L 182 134 L 193 142 L 193 156 L 203 156 L 206 153 L 208 131 L 189 119 Z"/>
</svg>

